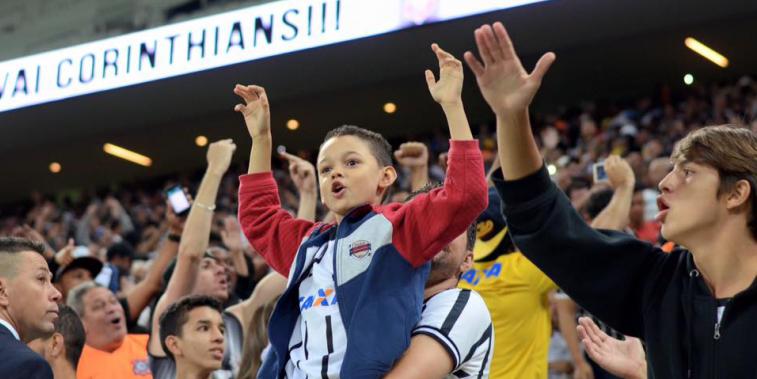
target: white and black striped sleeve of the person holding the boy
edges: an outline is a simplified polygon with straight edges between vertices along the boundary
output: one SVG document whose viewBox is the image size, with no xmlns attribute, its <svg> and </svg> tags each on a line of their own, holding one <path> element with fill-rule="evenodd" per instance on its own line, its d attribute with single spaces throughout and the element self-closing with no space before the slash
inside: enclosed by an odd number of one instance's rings
<svg viewBox="0 0 757 379">
<path fill-rule="evenodd" d="M 476 291 L 440 292 L 423 304 L 413 335 L 439 342 L 453 361 L 447 378 L 488 378 L 494 351 L 494 328 L 486 303 Z"/>
</svg>

